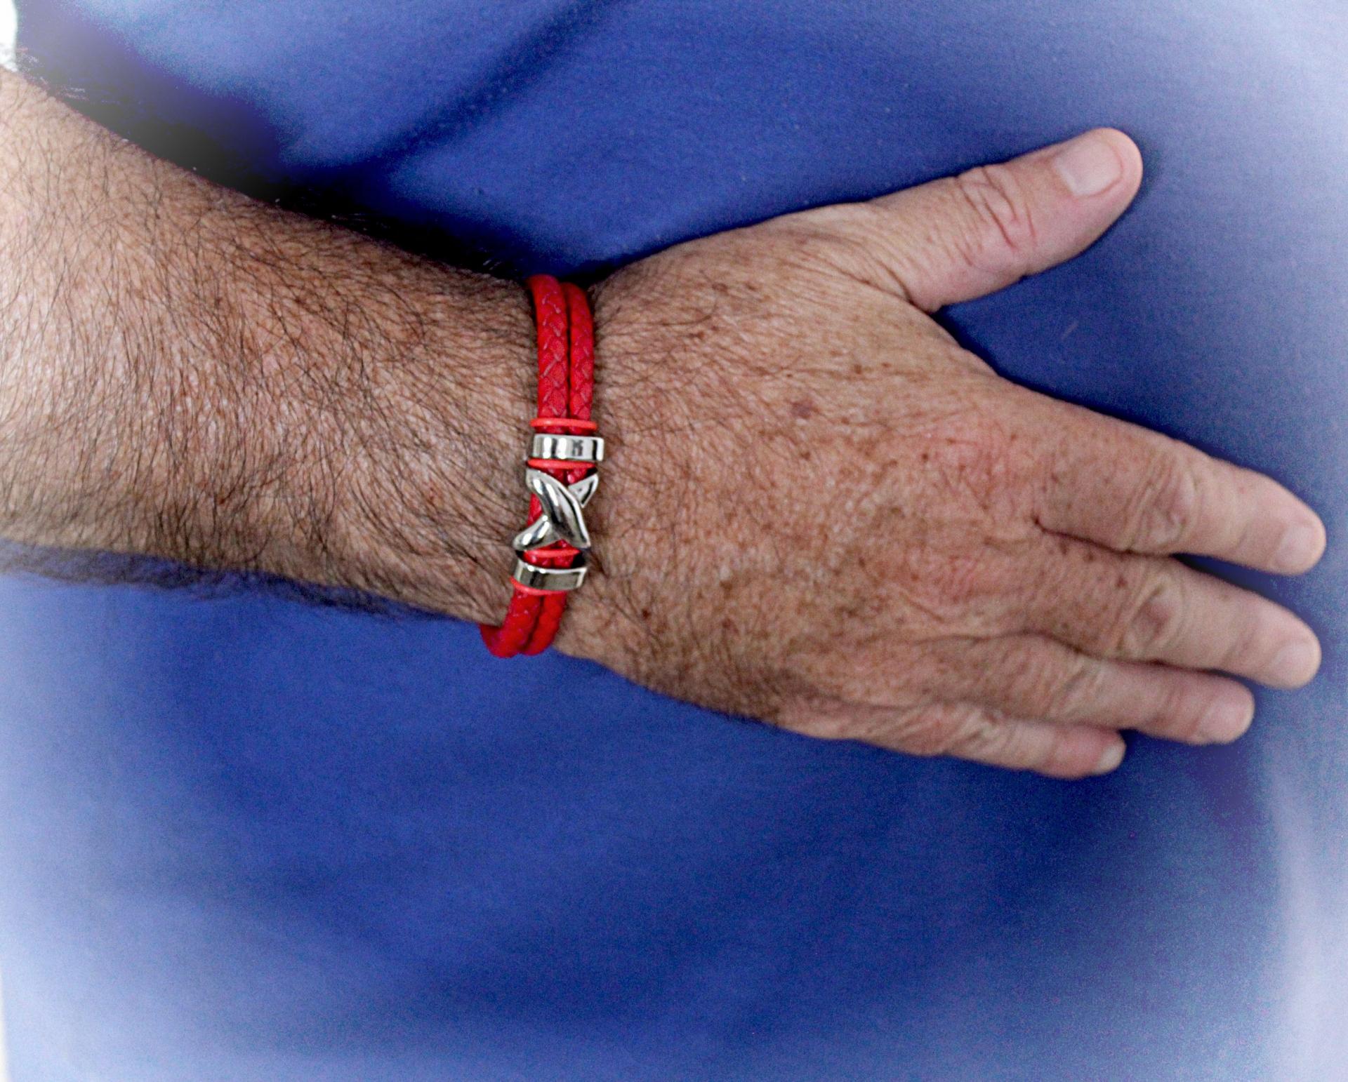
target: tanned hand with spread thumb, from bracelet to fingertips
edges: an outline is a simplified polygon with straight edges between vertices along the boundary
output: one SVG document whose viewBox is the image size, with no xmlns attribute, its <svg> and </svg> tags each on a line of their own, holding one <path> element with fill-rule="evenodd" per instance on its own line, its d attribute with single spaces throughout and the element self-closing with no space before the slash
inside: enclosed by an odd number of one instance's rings
<svg viewBox="0 0 1348 1082">
<path fill-rule="evenodd" d="M 1138 190 L 1101 129 L 681 244 L 596 292 L 603 574 L 561 648 L 801 733 L 1057 777 L 1119 729 L 1235 740 L 1312 678 L 1291 613 L 1175 552 L 1310 567 L 1281 485 L 999 377 L 931 318 L 1078 253 Z"/>
</svg>

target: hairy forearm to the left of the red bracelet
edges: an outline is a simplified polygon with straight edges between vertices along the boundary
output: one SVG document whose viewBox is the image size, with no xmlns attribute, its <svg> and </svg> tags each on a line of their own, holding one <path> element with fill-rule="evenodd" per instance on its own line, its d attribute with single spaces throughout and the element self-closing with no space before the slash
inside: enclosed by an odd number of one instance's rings
<svg viewBox="0 0 1348 1082">
<path fill-rule="evenodd" d="M 492 618 L 530 340 L 516 284 L 209 185 L 0 73 L 4 536 Z"/>
</svg>

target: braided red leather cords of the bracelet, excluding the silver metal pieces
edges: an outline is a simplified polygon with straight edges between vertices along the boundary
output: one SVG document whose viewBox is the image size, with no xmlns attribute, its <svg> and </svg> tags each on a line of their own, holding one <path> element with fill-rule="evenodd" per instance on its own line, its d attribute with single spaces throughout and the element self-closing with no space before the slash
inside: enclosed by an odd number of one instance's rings
<svg viewBox="0 0 1348 1082">
<path fill-rule="evenodd" d="M 530 295 L 538 322 L 538 419 L 539 431 L 580 435 L 594 430 L 590 404 L 594 399 L 594 323 L 585 291 L 561 284 L 550 275 L 530 278 Z M 566 422 L 578 423 L 566 423 Z M 574 484 L 589 466 L 534 464 L 565 484 Z M 542 513 L 537 496 L 528 501 L 528 521 Z M 531 548 L 524 561 L 542 567 L 569 567 L 577 551 L 565 542 Z M 506 620 L 499 628 L 480 625 L 483 641 L 497 658 L 542 654 L 557 635 L 566 612 L 562 590 L 528 590 L 512 583 Z"/>
</svg>

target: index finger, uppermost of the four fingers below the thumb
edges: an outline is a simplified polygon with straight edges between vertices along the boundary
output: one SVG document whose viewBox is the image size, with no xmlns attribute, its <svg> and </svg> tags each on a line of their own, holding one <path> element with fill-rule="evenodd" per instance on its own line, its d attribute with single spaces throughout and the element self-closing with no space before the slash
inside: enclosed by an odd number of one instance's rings
<svg viewBox="0 0 1348 1082">
<path fill-rule="evenodd" d="M 1139 424 L 1035 397 L 1047 447 L 1034 515 L 1045 530 L 1120 552 L 1188 552 L 1281 574 L 1309 570 L 1324 554 L 1324 523 L 1271 477 Z"/>
</svg>

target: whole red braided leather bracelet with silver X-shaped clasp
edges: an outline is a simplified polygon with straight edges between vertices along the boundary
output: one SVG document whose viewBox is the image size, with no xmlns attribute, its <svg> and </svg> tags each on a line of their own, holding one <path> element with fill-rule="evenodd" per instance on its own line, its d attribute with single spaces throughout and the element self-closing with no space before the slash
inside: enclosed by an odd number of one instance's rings
<svg viewBox="0 0 1348 1082">
<path fill-rule="evenodd" d="M 500 627 L 481 624 L 497 658 L 542 654 L 557 635 L 566 594 L 585 581 L 584 507 L 599 485 L 604 441 L 594 435 L 594 323 L 585 291 L 550 275 L 524 283 L 538 323 L 538 416 L 526 464 L 528 523 L 515 535 L 510 605 Z"/>
</svg>

